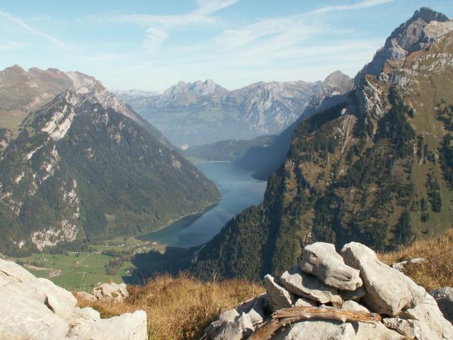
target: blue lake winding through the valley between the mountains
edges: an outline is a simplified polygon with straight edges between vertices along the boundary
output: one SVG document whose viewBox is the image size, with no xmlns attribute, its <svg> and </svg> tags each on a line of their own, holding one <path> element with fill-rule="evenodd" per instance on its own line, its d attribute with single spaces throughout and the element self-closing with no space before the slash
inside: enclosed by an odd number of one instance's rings
<svg viewBox="0 0 453 340">
<path fill-rule="evenodd" d="M 137 239 L 181 248 L 198 246 L 212 239 L 238 212 L 263 200 L 266 182 L 253 179 L 251 171 L 231 162 L 208 162 L 197 165 L 197 168 L 219 188 L 222 193 L 219 203 Z"/>
</svg>

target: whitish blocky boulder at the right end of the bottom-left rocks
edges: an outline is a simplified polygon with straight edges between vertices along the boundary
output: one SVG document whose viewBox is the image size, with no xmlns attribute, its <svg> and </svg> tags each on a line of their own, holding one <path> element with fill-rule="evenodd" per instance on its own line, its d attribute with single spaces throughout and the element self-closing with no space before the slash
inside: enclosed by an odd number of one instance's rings
<svg viewBox="0 0 453 340">
<path fill-rule="evenodd" d="M 147 313 L 137 310 L 110 319 L 84 320 L 74 324 L 69 331 L 70 340 L 145 340 Z"/>
</svg>

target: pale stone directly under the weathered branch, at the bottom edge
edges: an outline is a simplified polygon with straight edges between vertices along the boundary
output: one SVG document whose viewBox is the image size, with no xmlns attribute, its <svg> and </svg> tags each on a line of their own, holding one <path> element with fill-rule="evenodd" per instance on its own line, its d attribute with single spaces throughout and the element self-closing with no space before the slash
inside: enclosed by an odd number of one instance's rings
<svg viewBox="0 0 453 340">
<path fill-rule="evenodd" d="M 328 321 L 303 321 L 291 324 L 279 331 L 275 340 L 354 340 L 352 324 Z"/>
</svg>

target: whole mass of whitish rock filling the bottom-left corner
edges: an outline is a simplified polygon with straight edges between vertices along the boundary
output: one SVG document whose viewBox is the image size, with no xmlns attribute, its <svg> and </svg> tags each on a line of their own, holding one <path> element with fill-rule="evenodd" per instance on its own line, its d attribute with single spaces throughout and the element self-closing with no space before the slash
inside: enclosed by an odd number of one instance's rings
<svg viewBox="0 0 453 340">
<path fill-rule="evenodd" d="M 0 259 L 1 340 L 144 340 L 147 315 L 137 311 L 101 319 L 92 308 L 18 264 Z"/>
</svg>

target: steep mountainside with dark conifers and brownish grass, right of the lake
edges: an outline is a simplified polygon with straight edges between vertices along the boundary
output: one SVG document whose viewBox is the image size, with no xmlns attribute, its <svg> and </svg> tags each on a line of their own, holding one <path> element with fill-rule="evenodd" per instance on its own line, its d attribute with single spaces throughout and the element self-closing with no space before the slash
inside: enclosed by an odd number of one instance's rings
<svg viewBox="0 0 453 340">
<path fill-rule="evenodd" d="M 360 74 L 347 101 L 298 125 L 263 203 L 198 251 L 193 271 L 258 279 L 315 239 L 391 249 L 452 227 L 453 33 L 437 21 L 424 30 L 439 27 L 430 45 L 379 77 Z"/>
</svg>

